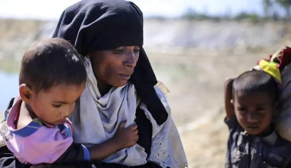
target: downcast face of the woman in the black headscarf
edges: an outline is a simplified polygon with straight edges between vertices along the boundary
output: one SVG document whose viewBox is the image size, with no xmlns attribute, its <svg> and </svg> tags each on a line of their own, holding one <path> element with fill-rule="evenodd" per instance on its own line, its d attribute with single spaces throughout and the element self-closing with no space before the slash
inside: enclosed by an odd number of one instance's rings
<svg viewBox="0 0 291 168">
<path fill-rule="evenodd" d="M 134 71 L 139 59 L 139 46 L 123 46 L 88 55 L 98 87 L 101 84 L 119 87 L 127 83 Z"/>
</svg>

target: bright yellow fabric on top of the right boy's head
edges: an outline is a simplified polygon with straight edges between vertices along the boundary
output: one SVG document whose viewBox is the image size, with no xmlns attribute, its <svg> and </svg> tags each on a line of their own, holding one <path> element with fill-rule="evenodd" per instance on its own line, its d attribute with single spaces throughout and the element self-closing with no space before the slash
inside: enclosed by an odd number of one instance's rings
<svg viewBox="0 0 291 168">
<path fill-rule="evenodd" d="M 266 61 L 266 60 L 261 60 L 259 62 L 259 65 L 254 67 L 254 69 L 260 68 L 275 79 L 277 79 L 278 82 L 282 82 L 281 80 L 281 74 L 280 70 L 278 68 L 278 64 L 272 61 Z"/>
</svg>

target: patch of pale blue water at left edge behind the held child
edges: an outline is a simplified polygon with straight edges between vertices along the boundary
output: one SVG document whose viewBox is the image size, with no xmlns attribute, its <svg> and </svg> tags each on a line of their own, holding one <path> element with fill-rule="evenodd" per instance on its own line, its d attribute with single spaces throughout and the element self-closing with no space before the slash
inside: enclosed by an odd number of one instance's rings
<svg viewBox="0 0 291 168">
<path fill-rule="evenodd" d="M 0 71 L 0 81 L 0 112 L 2 112 L 9 100 L 18 93 L 18 74 Z"/>
</svg>

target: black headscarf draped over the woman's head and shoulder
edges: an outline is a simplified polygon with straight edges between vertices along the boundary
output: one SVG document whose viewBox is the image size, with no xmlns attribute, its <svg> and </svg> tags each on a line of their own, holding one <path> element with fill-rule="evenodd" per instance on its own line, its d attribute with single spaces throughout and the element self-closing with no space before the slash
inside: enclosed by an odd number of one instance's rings
<svg viewBox="0 0 291 168">
<path fill-rule="evenodd" d="M 64 38 L 77 51 L 89 52 L 121 46 L 141 47 L 130 81 L 159 125 L 168 118 L 155 92 L 157 84 L 143 45 L 143 14 L 133 2 L 124 0 L 83 0 L 66 8 L 52 37 Z"/>
</svg>

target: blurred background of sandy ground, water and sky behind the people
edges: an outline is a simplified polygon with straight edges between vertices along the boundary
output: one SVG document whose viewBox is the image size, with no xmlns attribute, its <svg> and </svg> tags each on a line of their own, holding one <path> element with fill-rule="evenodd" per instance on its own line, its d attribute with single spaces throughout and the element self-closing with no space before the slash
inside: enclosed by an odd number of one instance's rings
<svg viewBox="0 0 291 168">
<path fill-rule="evenodd" d="M 132 0 L 144 48 L 168 101 L 189 167 L 223 167 L 223 82 L 291 45 L 291 0 Z M 22 54 L 49 38 L 77 0 L 0 0 L 0 112 L 18 92 Z M 2 116 L 2 115 L 1 115 Z"/>
</svg>

